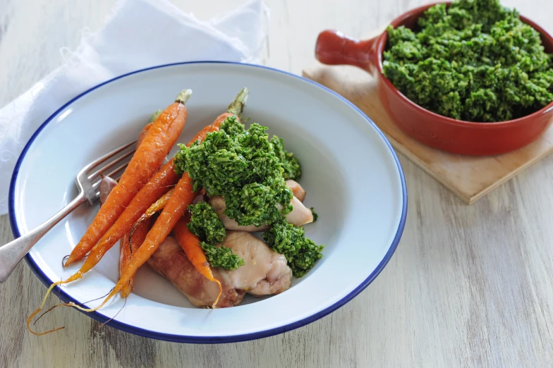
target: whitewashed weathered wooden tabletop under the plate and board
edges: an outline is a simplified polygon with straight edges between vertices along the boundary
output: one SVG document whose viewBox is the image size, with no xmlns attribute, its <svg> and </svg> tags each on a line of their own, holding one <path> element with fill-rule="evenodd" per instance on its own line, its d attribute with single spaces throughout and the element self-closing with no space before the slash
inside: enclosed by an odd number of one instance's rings
<svg viewBox="0 0 553 368">
<path fill-rule="evenodd" d="M 174 2 L 200 19 L 242 3 Z M 267 0 L 263 62 L 300 74 L 320 30 L 362 37 L 420 2 Z M 0 0 L 0 106 L 59 66 L 59 49 L 74 49 L 80 30 L 97 29 L 113 4 Z M 553 1 L 503 4 L 553 32 Z M 62 308 L 48 318 L 68 328 L 37 338 L 25 319 L 45 289 L 23 262 L 0 286 L 0 367 L 552 366 L 553 157 L 470 207 L 400 159 L 409 193 L 403 239 L 376 281 L 329 316 L 259 341 L 185 345 L 100 328 Z M 11 239 L 2 216 L 0 244 Z"/>
</svg>

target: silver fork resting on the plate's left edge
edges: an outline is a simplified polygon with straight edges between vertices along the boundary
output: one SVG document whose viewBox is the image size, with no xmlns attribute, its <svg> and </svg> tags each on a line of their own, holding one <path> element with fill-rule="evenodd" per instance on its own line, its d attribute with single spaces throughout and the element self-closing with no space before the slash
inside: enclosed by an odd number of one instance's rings
<svg viewBox="0 0 553 368">
<path fill-rule="evenodd" d="M 69 202 L 69 204 L 57 214 L 51 216 L 47 221 L 44 221 L 42 225 L 32 229 L 28 234 L 0 247 L 0 283 L 4 283 L 8 279 L 13 269 L 15 269 L 21 259 L 25 257 L 25 254 L 27 254 L 33 245 L 53 228 L 56 223 L 59 223 L 61 219 L 84 202 L 88 202 L 89 205 L 98 202 L 99 183 L 101 180 L 100 174 L 103 173 L 105 176 L 119 180 L 123 174 L 123 169 L 126 168 L 128 162 L 133 157 L 135 143 L 136 141 L 130 142 L 116 148 L 83 167 L 77 174 L 77 178 L 75 178 L 79 194 L 74 200 Z"/>
</svg>

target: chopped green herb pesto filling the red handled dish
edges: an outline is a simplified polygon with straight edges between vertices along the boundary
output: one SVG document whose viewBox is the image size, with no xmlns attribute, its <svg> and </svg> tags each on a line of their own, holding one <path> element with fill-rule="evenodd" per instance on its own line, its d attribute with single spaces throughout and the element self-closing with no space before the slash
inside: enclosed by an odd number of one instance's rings
<svg viewBox="0 0 553 368">
<path fill-rule="evenodd" d="M 388 27 L 384 75 L 416 104 L 475 122 L 520 118 L 553 101 L 553 56 L 499 0 L 437 4 L 418 28 Z"/>
</svg>

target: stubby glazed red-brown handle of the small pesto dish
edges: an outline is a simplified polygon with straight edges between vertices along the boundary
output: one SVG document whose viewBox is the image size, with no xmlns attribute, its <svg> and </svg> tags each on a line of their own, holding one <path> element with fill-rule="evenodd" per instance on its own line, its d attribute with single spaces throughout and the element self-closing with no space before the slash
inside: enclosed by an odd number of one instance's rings
<svg viewBox="0 0 553 368">
<path fill-rule="evenodd" d="M 360 41 L 336 30 L 324 30 L 317 37 L 315 57 L 327 65 L 352 65 L 375 74 L 377 58 L 374 48 L 378 37 Z"/>
</svg>

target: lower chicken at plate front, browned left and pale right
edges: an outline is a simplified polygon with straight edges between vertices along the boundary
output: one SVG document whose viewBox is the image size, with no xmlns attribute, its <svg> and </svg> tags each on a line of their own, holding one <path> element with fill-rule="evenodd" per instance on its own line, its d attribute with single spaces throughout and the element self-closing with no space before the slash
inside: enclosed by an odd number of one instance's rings
<svg viewBox="0 0 553 368">
<path fill-rule="evenodd" d="M 231 248 L 245 262 L 235 270 L 212 269 L 213 276 L 223 286 L 217 307 L 237 305 L 246 292 L 256 296 L 273 295 L 290 288 L 292 270 L 286 264 L 286 257 L 250 233 L 227 231 L 224 242 L 217 246 Z M 148 264 L 198 307 L 210 306 L 217 298 L 217 283 L 207 280 L 194 268 L 173 237 L 167 237 L 159 245 Z"/>
</svg>

